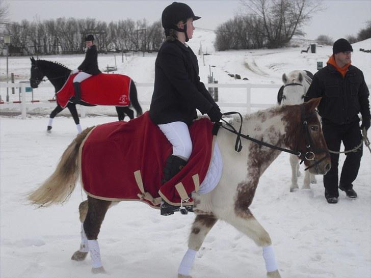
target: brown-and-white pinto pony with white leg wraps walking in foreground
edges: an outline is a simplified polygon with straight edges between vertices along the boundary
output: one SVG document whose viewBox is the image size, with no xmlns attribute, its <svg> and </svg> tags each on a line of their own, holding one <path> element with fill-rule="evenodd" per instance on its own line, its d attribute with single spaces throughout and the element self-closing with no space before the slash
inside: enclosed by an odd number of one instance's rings
<svg viewBox="0 0 371 278">
<path fill-rule="evenodd" d="M 249 207 L 260 176 L 282 150 L 296 150 L 313 174 L 324 175 L 330 169 L 327 145 L 314 110 L 319 102 L 320 98 L 300 105 L 276 106 L 246 116 L 243 123 L 233 121 L 231 125 L 235 129 L 239 130 L 240 125 L 242 126 L 237 137 L 243 137 L 243 148 L 240 152 L 235 152 L 231 147 L 236 142 L 236 134 L 227 130 L 228 127 L 219 129 L 216 140 L 224 161 L 221 178 L 213 190 L 203 194 L 192 193 L 196 218 L 189 237 L 189 249 L 180 263 L 178 277 L 191 277 L 190 270 L 195 255 L 207 233 L 219 219 L 226 221 L 261 246 L 267 275 L 280 277 L 271 238 Z M 84 150 L 83 143 L 89 137 L 91 129 L 88 128 L 77 135 L 63 153 L 55 172 L 29 194 L 28 198 L 34 205 L 49 206 L 68 199 L 78 176 L 83 174 L 80 173 L 78 161 Z M 250 137 L 243 134 L 249 134 Z M 258 138 L 261 144 L 244 138 Z M 271 147 L 267 147 L 267 144 Z M 110 157 L 102 159 L 108 161 Z M 97 237 L 104 215 L 113 203 L 115 202 L 89 195 L 88 200 L 79 206 L 82 242 L 81 248 L 71 259 L 82 261 L 90 252 L 94 273 L 104 272 Z"/>
</svg>

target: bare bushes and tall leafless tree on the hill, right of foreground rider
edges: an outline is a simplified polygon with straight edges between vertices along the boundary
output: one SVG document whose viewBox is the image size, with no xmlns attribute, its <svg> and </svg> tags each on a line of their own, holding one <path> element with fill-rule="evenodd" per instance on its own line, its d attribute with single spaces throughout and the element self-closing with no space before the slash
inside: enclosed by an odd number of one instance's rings
<svg viewBox="0 0 371 278">
<path fill-rule="evenodd" d="M 217 50 L 282 47 L 293 36 L 303 35 L 303 25 L 323 9 L 320 1 L 308 0 L 248 0 L 241 4 L 244 15 L 218 26 Z"/>
</svg>

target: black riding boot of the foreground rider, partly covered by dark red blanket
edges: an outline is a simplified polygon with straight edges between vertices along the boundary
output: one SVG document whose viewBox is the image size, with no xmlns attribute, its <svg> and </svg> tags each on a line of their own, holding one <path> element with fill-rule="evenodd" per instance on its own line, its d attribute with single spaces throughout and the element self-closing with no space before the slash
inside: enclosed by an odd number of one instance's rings
<svg viewBox="0 0 371 278">
<path fill-rule="evenodd" d="M 167 181 L 171 180 L 176 174 L 180 172 L 180 170 L 187 164 L 187 161 L 180 158 L 179 156 L 170 155 L 168 159 L 166 159 L 166 165 L 164 168 L 164 179 L 162 183 L 166 183 Z M 161 215 L 171 215 L 174 214 L 175 211 L 179 211 L 178 206 L 173 206 L 166 203 L 164 200 L 161 202 Z M 188 211 L 181 211 L 182 214 L 187 214 Z"/>
</svg>

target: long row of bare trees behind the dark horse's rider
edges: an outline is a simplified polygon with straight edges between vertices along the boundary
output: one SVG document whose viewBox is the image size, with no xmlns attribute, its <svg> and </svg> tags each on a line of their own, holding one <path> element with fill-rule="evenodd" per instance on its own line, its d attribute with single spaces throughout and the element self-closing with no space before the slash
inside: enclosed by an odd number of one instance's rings
<svg viewBox="0 0 371 278">
<path fill-rule="evenodd" d="M 11 35 L 12 47 L 23 54 L 80 53 L 84 37 L 93 34 L 98 51 L 156 51 L 163 42 L 160 21 L 145 19 L 106 23 L 94 18 L 57 18 L 44 21 L 22 20 L 3 24 L 2 33 Z"/>
</svg>

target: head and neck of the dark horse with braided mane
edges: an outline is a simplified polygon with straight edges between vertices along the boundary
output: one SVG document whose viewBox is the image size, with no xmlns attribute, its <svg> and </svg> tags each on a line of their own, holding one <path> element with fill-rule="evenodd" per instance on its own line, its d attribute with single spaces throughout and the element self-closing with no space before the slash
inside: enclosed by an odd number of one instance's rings
<svg viewBox="0 0 371 278">
<path fill-rule="evenodd" d="M 44 76 L 48 78 L 52 85 L 54 85 L 56 91 L 62 88 L 66 82 L 71 70 L 59 63 L 54 63 L 45 60 L 35 60 L 33 57 L 31 60 L 31 78 L 30 84 L 32 88 L 37 88 Z"/>
</svg>

